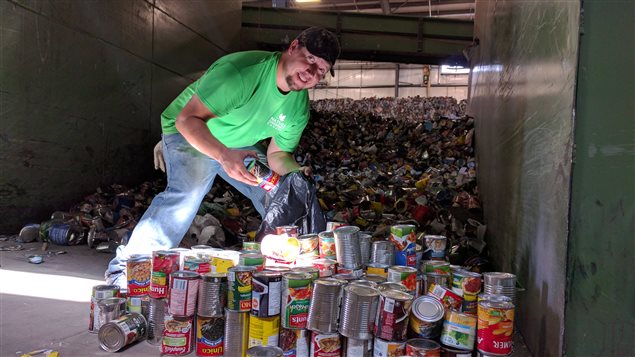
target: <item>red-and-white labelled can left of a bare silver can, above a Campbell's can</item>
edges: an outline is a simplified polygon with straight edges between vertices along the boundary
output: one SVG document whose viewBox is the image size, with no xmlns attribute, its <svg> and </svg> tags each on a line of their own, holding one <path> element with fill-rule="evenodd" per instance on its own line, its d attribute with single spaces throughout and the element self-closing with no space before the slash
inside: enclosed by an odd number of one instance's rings
<svg viewBox="0 0 635 357">
<path fill-rule="evenodd" d="M 170 274 L 168 311 L 174 316 L 194 316 L 200 275 L 179 270 Z"/>
</svg>

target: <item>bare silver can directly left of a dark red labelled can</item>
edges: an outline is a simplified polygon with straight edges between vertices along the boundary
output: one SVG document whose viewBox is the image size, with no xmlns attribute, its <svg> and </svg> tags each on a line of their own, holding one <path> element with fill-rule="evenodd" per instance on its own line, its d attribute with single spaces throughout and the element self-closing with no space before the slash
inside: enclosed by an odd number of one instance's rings
<svg viewBox="0 0 635 357">
<path fill-rule="evenodd" d="M 377 289 L 360 285 L 345 286 L 340 309 L 340 334 L 359 340 L 372 339 L 378 304 Z"/>
</svg>

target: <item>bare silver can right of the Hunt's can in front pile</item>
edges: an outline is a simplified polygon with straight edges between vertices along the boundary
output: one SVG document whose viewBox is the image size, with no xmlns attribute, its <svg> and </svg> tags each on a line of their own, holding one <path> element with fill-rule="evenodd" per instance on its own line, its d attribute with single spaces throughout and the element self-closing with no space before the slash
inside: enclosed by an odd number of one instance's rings
<svg viewBox="0 0 635 357">
<path fill-rule="evenodd" d="M 313 284 L 307 328 L 321 333 L 336 333 L 340 316 L 343 281 L 318 279 Z"/>
</svg>

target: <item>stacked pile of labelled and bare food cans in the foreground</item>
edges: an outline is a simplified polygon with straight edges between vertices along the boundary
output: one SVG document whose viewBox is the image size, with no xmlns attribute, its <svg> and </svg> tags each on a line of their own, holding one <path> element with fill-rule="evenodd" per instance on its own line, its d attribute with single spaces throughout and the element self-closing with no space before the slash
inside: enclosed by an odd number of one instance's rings
<svg viewBox="0 0 635 357">
<path fill-rule="evenodd" d="M 373 240 L 333 222 L 319 234 L 276 233 L 241 252 L 131 257 L 127 292 L 94 287 L 89 330 L 110 352 L 146 339 L 166 355 L 512 353 L 515 276 L 450 266 L 446 237 L 420 235 L 418 246 L 414 225 Z"/>
</svg>

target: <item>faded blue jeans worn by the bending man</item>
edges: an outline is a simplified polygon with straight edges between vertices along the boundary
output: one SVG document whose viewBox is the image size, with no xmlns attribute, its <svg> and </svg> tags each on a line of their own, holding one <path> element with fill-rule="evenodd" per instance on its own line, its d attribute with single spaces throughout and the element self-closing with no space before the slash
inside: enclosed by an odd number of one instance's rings
<svg viewBox="0 0 635 357">
<path fill-rule="evenodd" d="M 245 149 L 258 151 L 259 160 L 266 160 L 261 148 Z M 178 247 L 216 175 L 250 198 L 258 213 L 265 215 L 265 190 L 230 178 L 218 161 L 196 150 L 181 134 L 163 135 L 163 158 L 168 185 L 152 200 L 128 244 L 117 248 L 106 276 L 125 272 L 126 260 L 132 254 L 151 254 L 154 250 Z"/>
</svg>

